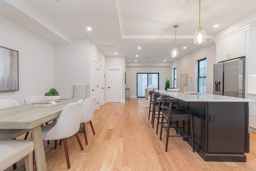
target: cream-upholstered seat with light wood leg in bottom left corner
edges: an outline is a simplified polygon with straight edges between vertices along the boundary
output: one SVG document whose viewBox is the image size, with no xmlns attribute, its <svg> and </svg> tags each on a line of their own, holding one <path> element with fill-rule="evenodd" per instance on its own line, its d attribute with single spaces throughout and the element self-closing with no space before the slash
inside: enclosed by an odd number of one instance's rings
<svg viewBox="0 0 256 171">
<path fill-rule="evenodd" d="M 33 171 L 34 142 L 21 139 L 0 140 L 0 171 L 25 158 L 26 171 Z"/>
</svg>

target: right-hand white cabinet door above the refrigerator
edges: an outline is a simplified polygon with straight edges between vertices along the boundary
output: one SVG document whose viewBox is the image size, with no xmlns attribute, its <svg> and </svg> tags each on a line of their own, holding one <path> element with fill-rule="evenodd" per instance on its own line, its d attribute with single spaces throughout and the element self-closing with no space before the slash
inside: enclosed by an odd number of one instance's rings
<svg viewBox="0 0 256 171">
<path fill-rule="evenodd" d="M 245 33 L 230 38 L 230 59 L 245 56 Z"/>
</svg>

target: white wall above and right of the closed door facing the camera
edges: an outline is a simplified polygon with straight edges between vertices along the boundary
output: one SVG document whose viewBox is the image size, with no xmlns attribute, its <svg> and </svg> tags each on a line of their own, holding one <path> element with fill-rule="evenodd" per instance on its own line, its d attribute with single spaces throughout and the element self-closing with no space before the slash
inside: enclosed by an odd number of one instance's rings
<svg viewBox="0 0 256 171">
<path fill-rule="evenodd" d="M 106 57 L 106 68 L 119 67 L 122 68 L 122 99 L 121 102 L 125 102 L 125 58 L 124 56 L 107 56 Z M 108 79 L 108 78 L 106 78 Z M 106 85 L 107 86 L 107 85 Z"/>
</svg>

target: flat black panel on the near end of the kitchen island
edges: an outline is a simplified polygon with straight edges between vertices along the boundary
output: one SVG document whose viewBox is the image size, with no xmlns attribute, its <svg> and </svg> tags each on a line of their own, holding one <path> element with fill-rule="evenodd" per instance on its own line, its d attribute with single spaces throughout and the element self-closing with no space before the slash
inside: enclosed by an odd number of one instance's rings
<svg viewBox="0 0 256 171">
<path fill-rule="evenodd" d="M 244 102 L 208 102 L 207 152 L 244 153 L 246 113 Z"/>
</svg>

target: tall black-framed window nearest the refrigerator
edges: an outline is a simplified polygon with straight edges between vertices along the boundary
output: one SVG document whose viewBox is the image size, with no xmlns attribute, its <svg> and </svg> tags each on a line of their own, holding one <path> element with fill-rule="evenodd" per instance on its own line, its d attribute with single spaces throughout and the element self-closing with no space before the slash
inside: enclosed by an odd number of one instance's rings
<svg viewBox="0 0 256 171">
<path fill-rule="evenodd" d="M 206 93 L 206 58 L 198 61 L 198 92 Z"/>
</svg>

